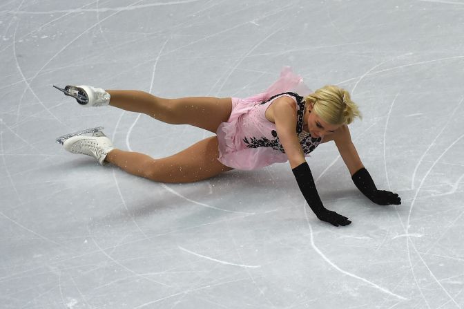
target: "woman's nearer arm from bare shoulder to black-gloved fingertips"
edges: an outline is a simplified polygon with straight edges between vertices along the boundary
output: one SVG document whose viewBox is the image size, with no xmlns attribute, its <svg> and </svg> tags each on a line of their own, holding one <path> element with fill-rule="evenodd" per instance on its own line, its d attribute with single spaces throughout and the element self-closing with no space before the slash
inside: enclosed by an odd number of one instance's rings
<svg viewBox="0 0 464 309">
<path fill-rule="evenodd" d="M 280 100 L 282 99 L 282 100 Z M 296 108 L 294 102 L 287 97 L 277 99 L 273 106 L 276 129 L 282 147 L 289 158 L 293 175 L 298 182 L 301 193 L 311 207 L 316 216 L 332 225 L 349 225 L 351 221 L 347 217 L 332 212 L 322 205 L 316 184 L 314 183 L 311 169 L 305 159 L 305 153 L 302 151 L 298 135 L 296 135 Z"/>
</svg>

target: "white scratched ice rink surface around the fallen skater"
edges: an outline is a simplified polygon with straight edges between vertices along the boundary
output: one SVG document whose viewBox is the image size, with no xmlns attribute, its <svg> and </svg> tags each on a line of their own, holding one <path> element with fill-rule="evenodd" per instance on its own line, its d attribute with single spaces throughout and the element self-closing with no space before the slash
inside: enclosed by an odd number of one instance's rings
<svg viewBox="0 0 464 309">
<path fill-rule="evenodd" d="M 464 1 L 32 1 L 0 4 L 0 308 L 464 308 Z M 380 189 L 333 143 L 308 158 L 333 227 L 288 163 L 165 185 L 67 153 L 103 126 L 169 156 L 211 133 L 52 84 L 246 97 L 292 66 L 338 84 Z"/>
</svg>

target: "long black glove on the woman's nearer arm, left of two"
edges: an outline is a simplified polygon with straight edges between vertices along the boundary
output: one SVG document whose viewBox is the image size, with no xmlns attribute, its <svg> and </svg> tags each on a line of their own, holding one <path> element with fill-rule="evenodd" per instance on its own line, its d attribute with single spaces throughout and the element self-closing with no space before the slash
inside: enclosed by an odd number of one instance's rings
<svg viewBox="0 0 464 309">
<path fill-rule="evenodd" d="M 349 223 L 351 223 L 347 217 L 332 212 L 322 205 L 318 190 L 316 189 L 316 184 L 313 180 L 313 175 L 311 174 L 311 169 L 309 169 L 307 162 L 298 165 L 298 167 L 295 167 L 292 171 L 293 175 L 295 175 L 296 182 L 298 182 L 301 193 L 305 196 L 309 207 L 311 207 L 319 220 L 331 223 L 335 226 L 349 225 Z"/>
</svg>

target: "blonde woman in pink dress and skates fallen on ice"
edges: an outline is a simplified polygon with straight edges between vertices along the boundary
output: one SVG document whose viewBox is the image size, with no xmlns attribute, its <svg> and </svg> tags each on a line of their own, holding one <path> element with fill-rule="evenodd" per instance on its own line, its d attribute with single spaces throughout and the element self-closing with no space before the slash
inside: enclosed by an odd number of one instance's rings
<svg viewBox="0 0 464 309">
<path fill-rule="evenodd" d="M 93 156 L 101 165 L 113 163 L 130 174 L 159 182 L 195 182 L 232 169 L 258 169 L 288 160 L 314 214 L 335 226 L 349 225 L 347 217 L 322 205 L 305 160 L 321 142 L 334 141 L 354 184 L 367 198 L 378 205 L 401 203 L 398 194 L 376 188 L 351 142 L 348 124 L 360 113 L 349 93 L 337 86 L 311 93 L 290 68 L 284 68 L 266 92 L 245 99 L 164 99 L 142 91 L 105 91 L 90 86 L 66 86 L 61 91 L 84 106 L 115 106 L 216 134 L 160 159 L 115 149 L 100 131 L 64 141 L 67 151 Z"/>
</svg>

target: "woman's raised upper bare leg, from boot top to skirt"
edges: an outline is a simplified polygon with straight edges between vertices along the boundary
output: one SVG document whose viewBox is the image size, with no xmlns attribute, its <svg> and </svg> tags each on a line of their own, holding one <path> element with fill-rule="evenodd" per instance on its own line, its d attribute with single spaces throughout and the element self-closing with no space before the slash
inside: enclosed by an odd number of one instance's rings
<svg viewBox="0 0 464 309">
<path fill-rule="evenodd" d="M 191 124 L 216 133 L 221 122 L 229 120 L 232 111 L 230 97 L 182 97 L 164 99 L 144 91 L 107 90 L 110 105 L 145 113 L 169 124 Z"/>
</svg>

